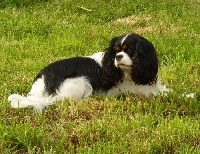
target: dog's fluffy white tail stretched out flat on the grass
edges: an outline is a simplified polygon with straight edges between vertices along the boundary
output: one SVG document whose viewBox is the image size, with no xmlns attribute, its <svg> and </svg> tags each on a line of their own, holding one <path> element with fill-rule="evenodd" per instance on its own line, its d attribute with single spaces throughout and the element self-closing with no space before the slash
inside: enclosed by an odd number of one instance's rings
<svg viewBox="0 0 200 154">
<path fill-rule="evenodd" d="M 45 107 L 55 103 L 56 99 L 52 97 L 36 97 L 36 96 L 21 96 L 12 94 L 8 97 L 12 108 L 25 108 L 28 106 L 34 107 L 37 112 L 41 112 Z"/>
</svg>

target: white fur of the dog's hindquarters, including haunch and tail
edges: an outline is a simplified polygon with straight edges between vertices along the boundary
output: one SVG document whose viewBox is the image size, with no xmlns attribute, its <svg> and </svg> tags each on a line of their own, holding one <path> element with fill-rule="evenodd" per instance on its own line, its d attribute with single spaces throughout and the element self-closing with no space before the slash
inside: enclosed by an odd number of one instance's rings
<svg viewBox="0 0 200 154">
<path fill-rule="evenodd" d="M 40 112 L 44 107 L 54 104 L 55 101 L 64 99 L 77 101 L 87 98 L 91 94 L 92 86 L 88 80 L 85 77 L 77 77 L 66 79 L 56 91 L 55 96 L 48 96 L 45 93 L 44 78 L 42 77 L 33 83 L 26 97 L 12 94 L 8 97 L 8 101 L 11 102 L 11 107 L 13 108 L 33 106 Z"/>
</svg>

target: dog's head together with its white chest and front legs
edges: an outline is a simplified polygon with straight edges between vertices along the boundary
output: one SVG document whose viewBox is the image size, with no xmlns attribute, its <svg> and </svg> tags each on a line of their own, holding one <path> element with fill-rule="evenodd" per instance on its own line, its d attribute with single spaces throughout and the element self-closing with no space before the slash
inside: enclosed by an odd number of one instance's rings
<svg viewBox="0 0 200 154">
<path fill-rule="evenodd" d="M 133 33 L 115 37 L 102 54 L 102 82 L 110 85 L 107 96 L 133 93 L 149 97 L 170 91 L 161 84 L 157 53 L 146 38 Z"/>
</svg>

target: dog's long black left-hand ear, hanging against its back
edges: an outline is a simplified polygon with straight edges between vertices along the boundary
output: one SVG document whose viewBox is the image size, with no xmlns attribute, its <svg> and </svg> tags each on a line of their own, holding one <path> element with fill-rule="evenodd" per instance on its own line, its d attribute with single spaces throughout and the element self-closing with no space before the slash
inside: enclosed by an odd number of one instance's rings
<svg viewBox="0 0 200 154">
<path fill-rule="evenodd" d="M 122 82 L 123 75 L 120 69 L 115 67 L 114 60 L 116 52 L 114 46 L 118 37 L 115 37 L 111 40 L 109 47 L 105 50 L 104 57 L 102 59 L 102 85 L 105 89 L 109 89 L 113 86 L 116 86 L 118 82 Z"/>
</svg>

